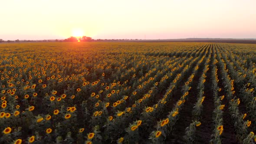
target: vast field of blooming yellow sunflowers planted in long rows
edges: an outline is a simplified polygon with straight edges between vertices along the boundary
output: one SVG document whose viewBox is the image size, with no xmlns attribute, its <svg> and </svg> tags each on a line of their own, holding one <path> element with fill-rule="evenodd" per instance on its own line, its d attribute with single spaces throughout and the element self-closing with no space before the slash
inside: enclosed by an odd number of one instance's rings
<svg viewBox="0 0 256 144">
<path fill-rule="evenodd" d="M 0 44 L 0 143 L 256 142 L 256 44 Z"/>
</svg>

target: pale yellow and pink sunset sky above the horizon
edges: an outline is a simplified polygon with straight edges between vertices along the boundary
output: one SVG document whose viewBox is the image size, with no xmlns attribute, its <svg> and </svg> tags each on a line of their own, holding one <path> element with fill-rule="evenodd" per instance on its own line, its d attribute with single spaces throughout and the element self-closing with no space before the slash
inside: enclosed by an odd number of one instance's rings
<svg viewBox="0 0 256 144">
<path fill-rule="evenodd" d="M 256 0 L 3 0 L 0 39 L 256 38 Z"/>
</svg>

